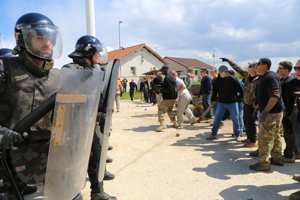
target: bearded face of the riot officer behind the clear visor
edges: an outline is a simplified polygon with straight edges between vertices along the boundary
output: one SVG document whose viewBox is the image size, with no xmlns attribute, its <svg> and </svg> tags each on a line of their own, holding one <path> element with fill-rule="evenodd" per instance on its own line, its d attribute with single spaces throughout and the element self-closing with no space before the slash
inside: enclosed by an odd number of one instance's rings
<svg viewBox="0 0 300 200">
<path fill-rule="evenodd" d="M 52 38 L 44 33 L 37 33 L 30 38 L 32 48 L 35 52 L 52 55 Z"/>
</svg>

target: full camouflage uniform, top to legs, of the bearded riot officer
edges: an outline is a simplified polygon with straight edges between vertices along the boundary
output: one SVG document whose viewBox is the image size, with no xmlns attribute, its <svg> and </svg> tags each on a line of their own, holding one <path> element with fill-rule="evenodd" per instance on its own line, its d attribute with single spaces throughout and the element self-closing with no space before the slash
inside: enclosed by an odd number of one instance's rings
<svg viewBox="0 0 300 200">
<path fill-rule="evenodd" d="M 0 125 L 5 128 L 13 128 L 57 90 L 59 70 L 52 68 L 53 60 L 47 60 L 40 69 L 27 54 L 23 50 L 19 57 L 3 58 L 9 74 L 7 82 L 1 85 L 5 85 L 5 89 L 0 94 Z M 10 150 L 6 159 L 10 168 L 16 171 L 16 180 L 21 190 L 26 184 L 45 181 L 48 141 L 52 129 L 51 114 L 52 111 L 27 130 L 29 135 L 23 142 L 14 145 L 15 148 Z M 0 192 L 10 195 L 12 189 L 1 163 L 0 185 Z M 10 198 L 14 199 L 13 196 Z"/>
</svg>

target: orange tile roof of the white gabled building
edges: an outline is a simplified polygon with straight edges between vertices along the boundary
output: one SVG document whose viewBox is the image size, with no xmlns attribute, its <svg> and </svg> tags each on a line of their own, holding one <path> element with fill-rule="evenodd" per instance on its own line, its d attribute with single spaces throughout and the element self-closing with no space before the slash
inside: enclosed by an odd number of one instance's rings
<svg viewBox="0 0 300 200">
<path fill-rule="evenodd" d="M 121 49 L 121 59 L 126 57 L 127 55 L 131 54 L 132 52 L 135 52 L 137 51 L 138 49 L 140 48 L 143 48 L 145 47 L 146 49 L 149 49 L 152 54 L 156 57 L 158 57 L 158 59 L 160 59 L 161 61 L 167 63 L 167 64 L 170 64 L 168 63 L 164 58 L 162 58 L 160 55 L 158 55 L 155 51 L 153 51 L 149 46 L 147 46 L 146 44 L 139 44 L 139 45 L 136 45 L 136 46 L 131 46 L 131 47 L 127 47 L 127 48 L 124 48 L 124 49 Z M 107 59 L 107 63 L 109 63 L 110 61 L 114 60 L 114 59 L 120 59 L 120 52 L 119 52 L 119 49 L 118 50 L 115 50 L 115 51 L 111 51 L 111 52 L 108 52 L 108 59 Z"/>
</svg>

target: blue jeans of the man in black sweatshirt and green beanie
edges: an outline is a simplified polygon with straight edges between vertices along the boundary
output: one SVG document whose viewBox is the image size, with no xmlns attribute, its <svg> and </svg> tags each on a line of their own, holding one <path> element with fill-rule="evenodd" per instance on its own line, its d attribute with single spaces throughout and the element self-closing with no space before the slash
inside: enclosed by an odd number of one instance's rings
<svg viewBox="0 0 300 200">
<path fill-rule="evenodd" d="M 217 136 L 219 126 L 221 119 L 226 111 L 226 109 L 229 110 L 230 115 L 231 115 L 231 120 L 233 123 L 233 133 L 235 137 L 240 136 L 240 125 L 238 122 L 238 103 L 218 103 L 218 107 L 216 110 L 216 115 L 214 116 L 214 125 L 212 126 L 211 129 L 211 135 L 212 136 Z"/>
</svg>

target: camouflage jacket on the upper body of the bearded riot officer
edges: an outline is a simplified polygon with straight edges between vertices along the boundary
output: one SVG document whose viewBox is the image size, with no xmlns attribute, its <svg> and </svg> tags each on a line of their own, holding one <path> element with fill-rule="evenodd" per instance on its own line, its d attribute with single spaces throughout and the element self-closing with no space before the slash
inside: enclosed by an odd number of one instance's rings
<svg viewBox="0 0 300 200">
<path fill-rule="evenodd" d="M 2 82 L 0 91 L 0 125 L 13 128 L 56 92 L 59 70 L 52 68 L 53 60 L 46 61 L 40 69 L 25 50 L 18 57 L 4 59 L 8 73 L 7 82 Z M 0 60 L 0 65 L 3 63 Z M 51 114 L 49 112 L 32 126 L 26 139 L 49 139 Z"/>
</svg>

